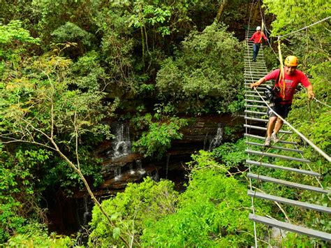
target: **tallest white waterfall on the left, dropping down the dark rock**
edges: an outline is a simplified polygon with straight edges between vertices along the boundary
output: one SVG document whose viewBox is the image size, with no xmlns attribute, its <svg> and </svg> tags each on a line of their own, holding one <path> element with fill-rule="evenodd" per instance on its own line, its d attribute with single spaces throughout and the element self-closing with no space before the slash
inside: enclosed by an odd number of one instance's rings
<svg viewBox="0 0 331 248">
<path fill-rule="evenodd" d="M 112 159 L 126 156 L 131 152 L 130 132 L 123 123 L 116 124 L 115 141 L 112 145 Z"/>
</svg>

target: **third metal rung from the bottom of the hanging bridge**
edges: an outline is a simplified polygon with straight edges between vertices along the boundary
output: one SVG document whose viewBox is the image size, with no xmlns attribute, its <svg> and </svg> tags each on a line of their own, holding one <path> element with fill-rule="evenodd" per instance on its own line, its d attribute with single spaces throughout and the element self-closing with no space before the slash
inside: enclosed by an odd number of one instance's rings
<svg viewBox="0 0 331 248">
<path fill-rule="evenodd" d="M 253 173 L 247 173 L 247 177 L 256 179 L 256 180 L 265 181 L 265 182 L 273 182 L 274 184 L 280 184 L 280 185 L 293 187 L 293 188 L 297 188 L 297 189 L 314 191 L 314 192 L 321 193 L 321 194 L 329 194 L 331 192 L 330 190 L 327 190 L 327 189 L 322 189 L 322 188 L 310 186 L 307 184 L 298 184 L 296 182 L 289 182 L 289 181 L 277 179 L 274 177 L 266 177 L 265 175 L 256 175 Z"/>
</svg>

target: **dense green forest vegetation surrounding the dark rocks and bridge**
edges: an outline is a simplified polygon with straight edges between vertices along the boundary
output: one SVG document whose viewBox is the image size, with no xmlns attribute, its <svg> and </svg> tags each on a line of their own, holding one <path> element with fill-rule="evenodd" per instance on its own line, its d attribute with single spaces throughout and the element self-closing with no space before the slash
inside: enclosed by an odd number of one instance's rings
<svg viewBox="0 0 331 248">
<path fill-rule="evenodd" d="M 328 1 L 263 1 L 271 37 L 330 16 Z M 189 182 L 179 194 L 172 182 L 128 184 L 98 203 L 88 237 L 47 232 L 44 197 L 71 196 L 102 183 L 101 159 L 91 156 L 113 138 L 105 119 L 127 120 L 138 131 L 134 149 L 161 158 L 185 117 L 232 113 L 243 107 L 240 42 L 251 1 L 18 0 L 0 8 L 0 243 L 11 246 L 242 247 L 253 245 L 248 219 L 244 141 L 200 151 L 186 164 Z M 321 11 L 321 9 L 325 11 Z M 258 5 L 251 25 L 260 24 Z M 304 18 L 302 18 L 304 16 Z M 235 31 L 235 32 L 233 32 Z M 282 40 L 309 75 L 317 101 L 304 90 L 288 117 L 326 153 L 330 146 L 330 20 Z M 325 35 L 326 34 L 326 35 Z M 275 45 L 276 47 L 276 45 Z M 278 61 L 265 48 L 270 69 Z M 228 136 L 231 136 L 228 131 Z M 296 138 L 300 141 L 299 138 Z M 311 168 L 330 187 L 330 163 L 307 148 Z M 297 165 L 295 165 L 297 166 Z M 300 165 L 306 168 L 306 164 Z M 258 170 L 263 170 L 259 168 Z M 262 172 L 262 171 L 260 171 Z M 264 170 L 265 175 L 275 175 Z M 278 178 L 314 184 L 311 177 Z M 85 189 L 86 190 L 86 189 Z M 328 196 L 266 184 L 266 192 L 328 205 Z M 256 200 L 256 211 L 330 232 L 327 214 Z M 260 245 L 267 228 L 258 225 Z M 327 244 L 289 234 L 284 246 Z"/>
</svg>

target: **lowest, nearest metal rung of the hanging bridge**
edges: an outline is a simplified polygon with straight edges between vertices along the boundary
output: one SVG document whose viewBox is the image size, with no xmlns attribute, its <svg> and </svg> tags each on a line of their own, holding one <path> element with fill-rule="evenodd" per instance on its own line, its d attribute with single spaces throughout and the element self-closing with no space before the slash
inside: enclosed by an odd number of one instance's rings
<svg viewBox="0 0 331 248">
<path fill-rule="evenodd" d="M 283 221 L 277 221 L 276 219 L 270 219 L 267 217 L 262 217 L 256 214 L 249 214 L 249 219 L 252 221 L 265 224 L 267 226 L 274 226 L 279 229 L 291 231 L 293 233 L 300 233 L 303 235 L 307 235 L 312 238 L 319 238 L 321 240 L 325 241 L 331 241 L 331 234 L 330 233 L 324 233 L 321 231 L 316 231 L 314 229 L 306 228 L 303 226 L 296 226 L 293 224 L 289 224 Z"/>
</svg>

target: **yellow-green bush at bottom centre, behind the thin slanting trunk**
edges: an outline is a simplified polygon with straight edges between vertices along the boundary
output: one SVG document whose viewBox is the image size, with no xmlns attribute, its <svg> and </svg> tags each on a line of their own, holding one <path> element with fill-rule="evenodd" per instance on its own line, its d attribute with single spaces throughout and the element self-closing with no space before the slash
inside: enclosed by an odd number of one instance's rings
<svg viewBox="0 0 331 248">
<path fill-rule="evenodd" d="M 103 200 L 103 207 L 117 228 L 111 228 L 98 207 L 94 207 L 89 235 L 90 246 L 124 245 L 119 233 L 133 245 L 140 244 L 140 235 L 146 222 L 154 222 L 175 211 L 178 193 L 170 181 L 154 182 L 149 177 L 140 184 L 127 184 L 124 193 Z"/>
</svg>

